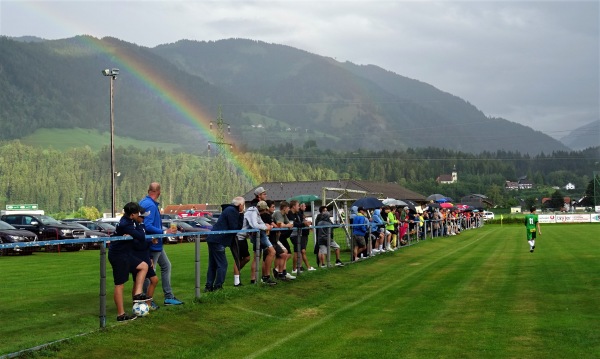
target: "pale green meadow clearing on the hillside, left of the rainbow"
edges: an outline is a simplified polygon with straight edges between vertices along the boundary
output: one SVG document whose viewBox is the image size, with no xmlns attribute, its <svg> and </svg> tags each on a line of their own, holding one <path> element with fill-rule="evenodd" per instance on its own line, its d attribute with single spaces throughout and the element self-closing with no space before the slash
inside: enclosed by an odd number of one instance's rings
<svg viewBox="0 0 600 359">
<path fill-rule="evenodd" d="M 41 148 L 52 147 L 59 151 L 85 146 L 89 146 L 93 151 L 99 151 L 102 147 L 110 146 L 110 135 L 108 132 L 84 128 L 41 128 L 29 136 L 23 137 L 21 143 Z M 115 147 L 127 148 L 130 146 L 142 150 L 160 148 L 165 151 L 181 148 L 181 145 L 174 143 L 140 141 L 129 137 L 115 136 Z"/>
</svg>

